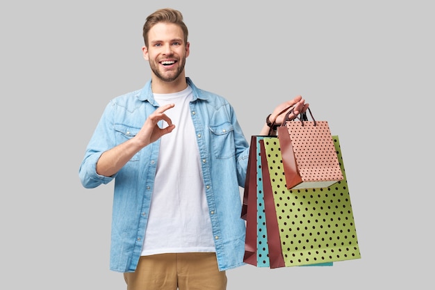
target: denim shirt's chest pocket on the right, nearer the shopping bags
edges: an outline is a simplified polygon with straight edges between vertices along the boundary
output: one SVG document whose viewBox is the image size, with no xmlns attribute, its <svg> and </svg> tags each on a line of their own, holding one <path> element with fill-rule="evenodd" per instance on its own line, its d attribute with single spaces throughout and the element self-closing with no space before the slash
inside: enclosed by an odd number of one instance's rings
<svg viewBox="0 0 435 290">
<path fill-rule="evenodd" d="M 217 159 L 228 159 L 236 154 L 234 145 L 233 125 L 225 122 L 220 125 L 210 126 L 213 152 Z"/>
</svg>

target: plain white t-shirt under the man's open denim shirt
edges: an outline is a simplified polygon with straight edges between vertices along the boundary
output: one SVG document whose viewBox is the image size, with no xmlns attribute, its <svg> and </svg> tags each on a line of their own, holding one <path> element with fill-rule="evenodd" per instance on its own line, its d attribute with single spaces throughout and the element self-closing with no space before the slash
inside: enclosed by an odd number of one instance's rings
<svg viewBox="0 0 435 290">
<path fill-rule="evenodd" d="M 175 129 L 162 136 L 142 255 L 215 252 L 195 129 L 190 118 L 192 88 L 154 94 Z M 164 122 L 163 127 L 167 126 Z"/>
</svg>

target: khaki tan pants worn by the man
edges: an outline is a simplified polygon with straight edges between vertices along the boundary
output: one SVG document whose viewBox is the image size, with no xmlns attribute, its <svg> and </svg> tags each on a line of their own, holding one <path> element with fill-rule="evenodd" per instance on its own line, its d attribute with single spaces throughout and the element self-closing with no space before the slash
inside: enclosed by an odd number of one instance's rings
<svg viewBox="0 0 435 290">
<path fill-rule="evenodd" d="M 142 256 L 134 273 L 124 273 L 127 290 L 225 290 L 227 275 L 214 252 Z"/>
</svg>

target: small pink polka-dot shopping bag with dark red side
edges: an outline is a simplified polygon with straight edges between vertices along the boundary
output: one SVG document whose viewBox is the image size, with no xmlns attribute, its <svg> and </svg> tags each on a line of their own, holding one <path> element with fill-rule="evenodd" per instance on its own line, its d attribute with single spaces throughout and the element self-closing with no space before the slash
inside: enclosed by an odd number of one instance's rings
<svg viewBox="0 0 435 290">
<path fill-rule="evenodd" d="M 290 120 L 288 111 L 277 128 L 287 188 L 322 188 L 343 180 L 327 121 L 316 121 L 308 108 Z"/>
</svg>

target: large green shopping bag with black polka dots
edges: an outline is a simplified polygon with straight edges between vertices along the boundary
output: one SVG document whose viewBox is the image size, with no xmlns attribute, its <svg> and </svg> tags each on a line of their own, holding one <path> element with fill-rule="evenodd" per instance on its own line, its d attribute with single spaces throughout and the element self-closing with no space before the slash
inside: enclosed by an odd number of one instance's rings
<svg viewBox="0 0 435 290">
<path fill-rule="evenodd" d="M 287 267 L 361 258 L 338 136 L 331 136 L 331 140 L 343 179 L 327 188 L 288 189 L 279 147 L 281 139 L 263 139 L 281 252 Z"/>
</svg>

